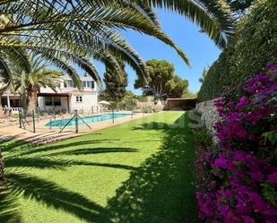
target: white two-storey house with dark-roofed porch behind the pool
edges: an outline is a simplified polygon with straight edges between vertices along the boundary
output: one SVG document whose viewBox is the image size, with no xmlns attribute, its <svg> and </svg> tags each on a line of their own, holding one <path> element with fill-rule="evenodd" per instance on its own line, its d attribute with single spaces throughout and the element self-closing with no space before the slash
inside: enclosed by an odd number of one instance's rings
<svg viewBox="0 0 277 223">
<path fill-rule="evenodd" d="M 56 92 L 50 88 L 40 88 L 38 93 L 38 108 L 41 112 L 71 113 L 76 110 L 98 109 L 97 82 L 90 76 L 80 77 L 82 90 L 74 86 L 69 76 L 63 76 L 57 80 Z M 22 107 L 19 95 L 13 95 L 9 91 L 4 92 L 1 98 L 2 106 L 14 110 L 14 107 Z"/>
</svg>

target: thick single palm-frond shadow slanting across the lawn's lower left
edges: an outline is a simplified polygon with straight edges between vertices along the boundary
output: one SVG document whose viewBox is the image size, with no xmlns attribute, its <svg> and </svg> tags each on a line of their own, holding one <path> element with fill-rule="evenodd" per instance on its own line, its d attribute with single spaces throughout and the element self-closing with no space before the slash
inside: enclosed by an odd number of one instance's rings
<svg viewBox="0 0 277 223">
<path fill-rule="evenodd" d="M 106 211 L 95 202 L 91 202 L 79 193 L 67 189 L 36 176 L 11 173 L 7 175 L 13 195 L 21 194 L 26 199 L 32 199 L 46 204 L 56 210 L 65 210 L 79 219 L 87 222 L 106 223 Z"/>
</svg>

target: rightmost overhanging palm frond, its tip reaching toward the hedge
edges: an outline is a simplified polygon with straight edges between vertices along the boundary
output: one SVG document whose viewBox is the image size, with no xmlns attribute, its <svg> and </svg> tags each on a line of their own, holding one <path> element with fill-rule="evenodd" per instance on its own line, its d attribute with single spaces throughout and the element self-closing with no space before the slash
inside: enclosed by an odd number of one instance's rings
<svg viewBox="0 0 277 223">
<path fill-rule="evenodd" d="M 194 21 L 219 47 L 226 47 L 234 31 L 229 5 L 219 0 L 147 0 L 153 7 L 166 8 Z"/>
</svg>

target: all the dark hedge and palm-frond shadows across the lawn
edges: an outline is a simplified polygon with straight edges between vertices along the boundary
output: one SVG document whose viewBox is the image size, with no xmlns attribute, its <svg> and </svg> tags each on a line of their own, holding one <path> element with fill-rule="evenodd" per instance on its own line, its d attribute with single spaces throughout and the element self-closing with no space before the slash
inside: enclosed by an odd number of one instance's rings
<svg viewBox="0 0 277 223">
<path fill-rule="evenodd" d="M 186 116 L 187 118 L 187 116 Z M 159 130 L 164 133 L 160 150 L 151 158 L 146 159 L 141 167 L 130 167 L 120 164 L 82 162 L 66 159 L 52 159 L 47 157 L 11 157 L 6 159 L 7 167 L 37 167 L 37 168 L 63 168 L 72 165 L 88 165 L 97 167 L 116 167 L 132 170 L 130 178 L 117 189 L 115 197 L 108 201 L 106 208 L 86 199 L 82 194 L 74 193 L 53 182 L 30 176 L 24 173 L 11 172 L 7 176 L 7 185 L 13 196 L 21 194 L 25 198 L 44 203 L 49 207 L 64 210 L 93 223 L 195 223 L 195 176 L 194 160 L 195 145 L 193 135 L 180 122 L 188 121 L 181 116 L 176 124 L 146 123 L 136 129 Z M 160 126 L 163 126 L 160 129 Z M 152 131 L 151 131 L 152 132 Z M 157 132 L 158 133 L 158 132 Z M 90 143 L 83 142 L 82 145 Z M 98 143 L 96 141 L 96 143 Z M 80 146 L 80 143 L 69 143 L 71 146 Z M 67 144 L 68 146 L 68 144 Z M 147 146 L 147 144 L 145 144 Z M 57 150 L 60 145 L 49 147 Z M 62 148 L 65 148 L 65 146 Z M 38 151 L 48 151 L 48 148 L 32 148 L 28 155 Z M 93 151 L 94 150 L 94 151 Z M 57 152 L 59 155 L 86 155 L 98 152 L 134 152 L 132 148 L 96 148 Z M 113 150 L 113 151 L 112 151 Z M 26 150 L 27 152 L 27 150 Z M 22 153 L 20 153 L 22 154 Z M 26 154 L 26 153 L 25 153 Z M 50 156 L 53 155 L 50 154 Z M 57 155 L 57 154 L 56 154 Z M 3 193 L 4 194 L 4 193 Z M 3 194 L 0 193 L 0 196 Z M 16 216 L 17 209 L 13 199 L 4 199 L 0 202 L 7 216 Z M 3 206 L 5 205 L 5 206 Z M 14 211 L 13 211 L 14 210 Z M 15 217 L 14 217 L 15 218 Z M 0 216 L 0 222 L 3 217 Z M 16 222 L 20 222 L 19 220 Z"/>
</svg>

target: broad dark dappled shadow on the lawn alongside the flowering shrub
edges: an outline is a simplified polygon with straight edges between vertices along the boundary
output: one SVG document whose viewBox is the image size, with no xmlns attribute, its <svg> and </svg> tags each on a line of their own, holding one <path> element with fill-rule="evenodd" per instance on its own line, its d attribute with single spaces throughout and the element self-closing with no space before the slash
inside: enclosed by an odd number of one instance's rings
<svg viewBox="0 0 277 223">
<path fill-rule="evenodd" d="M 184 121 L 185 116 L 181 117 Z M 187 118 L 187 117 L 186 117 Z M 186 119 L 187 120 L 187 119 Z M 180 120 L 177 120 L 177 123 Z M 187 125 L 151 123 L 140 129 L 160 129 L 160 151 L 141 167 L 108 201 L 109 219 L 117 223 L 193 223 L 196 219 L 193 135 Z"/>
</svg>

